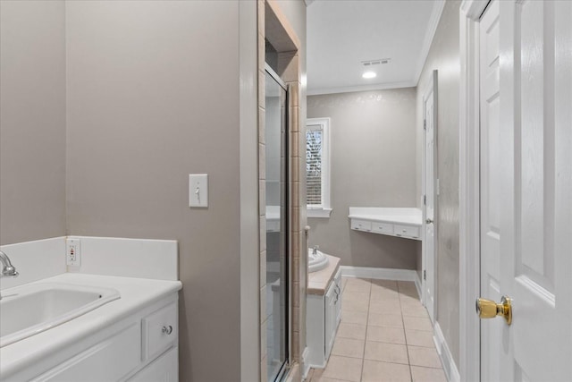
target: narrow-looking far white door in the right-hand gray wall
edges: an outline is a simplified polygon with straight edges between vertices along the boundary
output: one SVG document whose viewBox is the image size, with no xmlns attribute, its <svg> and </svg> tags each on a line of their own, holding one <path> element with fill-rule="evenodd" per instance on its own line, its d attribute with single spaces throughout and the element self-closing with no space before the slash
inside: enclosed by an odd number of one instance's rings
<svg viewBox="0 0 572 382">
<path fill-rule="evenodd" d="M 434 252 L 435 252 L 435 232 L 434 232 L 434 202 L 435 202 L 435 126 L 434 126 L 434 89 L 436 72 L 433 72 L 433 84 L 431 90 L 424 97 L 425 111 L 425 238 L 423 245 L 425 247 L 425 264 L 423 272 L 423 300 L 425 308 L 429 313 L 429 318 L 433 322 L 434 319 Z"/>
</svg>

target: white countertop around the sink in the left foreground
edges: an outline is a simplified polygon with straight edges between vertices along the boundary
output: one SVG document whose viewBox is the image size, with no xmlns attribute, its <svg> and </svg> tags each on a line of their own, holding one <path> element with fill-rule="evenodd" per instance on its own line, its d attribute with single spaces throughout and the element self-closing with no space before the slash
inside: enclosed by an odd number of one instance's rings
<svg viewBox="0 0 572 382">
<path fill-rule="evenodd" d="M 79 339 L 93 335 L 97 331 L 109 327 L 122 318 L 143 309 L 150 303 L 181 290 L 180 281 L 153 280 L 147 278 L 99 276 L 77 273 L 64 273 L 48 277 L 36 283 L 61 283 L 114 288 L 121 298 L 111 301 L 88 313 L 73 318 L 57 327 L 37 335 L 31 335 L 21 341 L 9 344 L 0 349 L 0 377 L 7 378 L 14 372 L 26 368 L 35 362 L 42 361 L 47 355 L 71 346 Z M 2 291 L 9 298 L 12 288 Z"/>
</svg>

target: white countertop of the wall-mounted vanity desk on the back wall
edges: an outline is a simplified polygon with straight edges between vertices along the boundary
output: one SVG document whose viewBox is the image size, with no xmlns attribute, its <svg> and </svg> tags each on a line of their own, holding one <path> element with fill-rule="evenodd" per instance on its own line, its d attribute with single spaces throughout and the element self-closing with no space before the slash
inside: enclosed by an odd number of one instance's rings
<svg viewBox="0 0 572 382">
<path fill-rule="evenodd" d="M 423 213 L 420 208 L 350 207 L 348 217 L 402 225 L 423 225 Z"/>
</svg>

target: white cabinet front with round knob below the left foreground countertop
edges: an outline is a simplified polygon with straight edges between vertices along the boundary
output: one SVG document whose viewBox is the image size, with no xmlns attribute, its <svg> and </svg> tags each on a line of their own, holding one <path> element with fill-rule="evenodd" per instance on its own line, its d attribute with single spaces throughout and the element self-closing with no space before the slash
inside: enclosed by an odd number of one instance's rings
<svg viewBox="0 0 572 382">
<path fill-rule="evenodd" d="M 175 294 L 75 344 L 80 352 L 33 380 L 175 382 L 178 327 Z"/>
</svg>

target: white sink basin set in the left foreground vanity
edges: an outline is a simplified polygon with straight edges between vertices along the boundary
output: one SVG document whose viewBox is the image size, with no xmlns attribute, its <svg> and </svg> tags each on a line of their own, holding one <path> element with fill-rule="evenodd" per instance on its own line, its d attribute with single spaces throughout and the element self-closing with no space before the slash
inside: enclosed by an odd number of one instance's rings
<svg viewBox="0 0 572 382">
<path fill-rule="evenodd" d="M 26 284 L 2 291 L 0 347 L 77 318 L 120 298 L 111 288 Z"/>
</svg>

